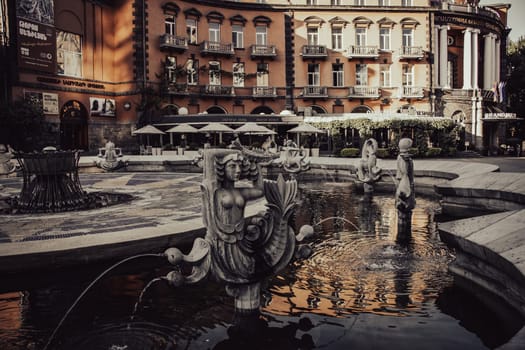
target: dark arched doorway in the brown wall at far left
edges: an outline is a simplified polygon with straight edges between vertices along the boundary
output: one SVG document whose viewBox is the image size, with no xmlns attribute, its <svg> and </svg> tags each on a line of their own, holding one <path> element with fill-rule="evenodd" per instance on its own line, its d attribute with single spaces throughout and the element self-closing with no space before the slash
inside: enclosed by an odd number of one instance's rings
<svg viewBox="0 0 525 350">
<path fill-rule="evenodd" d="M 60 148 L 89 150 L 86 107 L 76 100 L 66 102 L 60 110 Z"/>
</svg>

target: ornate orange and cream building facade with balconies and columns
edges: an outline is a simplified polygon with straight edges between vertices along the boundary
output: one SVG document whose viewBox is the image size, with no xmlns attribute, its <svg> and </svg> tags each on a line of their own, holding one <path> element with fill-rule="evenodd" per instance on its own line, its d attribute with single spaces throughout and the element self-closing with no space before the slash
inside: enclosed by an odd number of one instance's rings
<svg viewBox="0 0 525 350">
<path fill-rule="evenodd" d="M 3 99 L 42 103 L 45 137 L 62 148 L 107 138 L 133 148 L 132 130 L 147 123 L 255 121 L 284 132 L 303 117 L 408 113 L 454 118 L 466 143 L 489 149 L 513 120 L 499 117 L 509 5 L 1 2 Z"/>
</svg>

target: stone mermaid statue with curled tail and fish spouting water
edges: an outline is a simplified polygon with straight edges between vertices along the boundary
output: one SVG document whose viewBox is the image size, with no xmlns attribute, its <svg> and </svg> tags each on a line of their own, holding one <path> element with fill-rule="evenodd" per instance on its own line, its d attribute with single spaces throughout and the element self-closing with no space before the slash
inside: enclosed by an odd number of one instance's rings
<svg viewBox="0 0 525 350">
<path fill-rule="evenodd" d="M 296 206 L 297 182 L 279 175 L 276 181 L 263 179 L 254 153 L 239 149 L 205 149 L 202 154 L 202 214 L 204 238 L 194 241 L 187 255 L 177 248 L 166 250 L 176 265 L 167 275 L 179 286 L 211 277 L 226 284 L 235 298 L 237 312 L 250 314 L 260 307 L 261 282 L 280 271 L 294 257 L 296 240 L 289 225 Z M 266 211 L 245 216 L 248 202 L 266 199 Z M 181 268 L 191 265 L 183 274 Z"/>
</svg>

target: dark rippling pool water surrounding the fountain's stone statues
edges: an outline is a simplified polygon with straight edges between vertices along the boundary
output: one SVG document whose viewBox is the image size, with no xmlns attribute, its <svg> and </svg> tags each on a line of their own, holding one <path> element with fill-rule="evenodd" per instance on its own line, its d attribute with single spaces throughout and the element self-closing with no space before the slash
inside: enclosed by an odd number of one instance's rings
<svg viewBox="0 0 525 350">
<path fill-rule="evenodd" d="M 306 184 L 297 227 L 316 224 L 313 255 L 270 279 L 253 341 L 231 329 L 233 300 L 207 282 L 173 289 L 148 257 L 118 267 L 80 301 L 58 331 L 60 349 L 486 349 L 523 320 L 488 308 L 454 284 L 454 254 L 440 241 L 439 205 L 418 198 L 413 239 L 395 243 L 393 195 L 352 193 L 348 184 Z M 156 252 L 154 252 L 156 253 Z M 42 349 L 85 286 L 110 264 L 20 276 L 0 284 L 0 349 Z M 498 304 L 499 305 L 499 304 Z M 262 326 L 261 326 L 262 324 Z"/>
</svg>

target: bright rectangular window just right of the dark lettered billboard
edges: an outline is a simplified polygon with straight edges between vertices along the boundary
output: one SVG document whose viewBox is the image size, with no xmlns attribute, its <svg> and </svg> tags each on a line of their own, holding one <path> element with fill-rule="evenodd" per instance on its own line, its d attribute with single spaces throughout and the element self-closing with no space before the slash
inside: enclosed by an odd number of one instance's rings
<svg viewBox="0 0 525 350">
<path fill-rule="evenodd" d="M 82 77 L 82 42 L 80 35 L 57 31 L 57 74 Z"/>
</svg>

